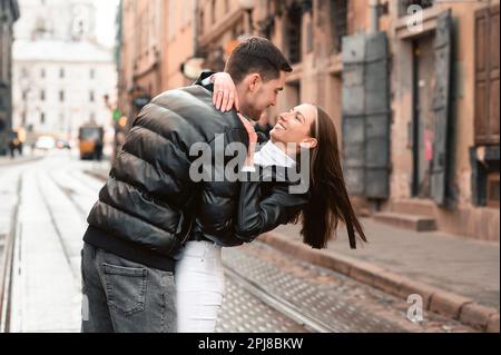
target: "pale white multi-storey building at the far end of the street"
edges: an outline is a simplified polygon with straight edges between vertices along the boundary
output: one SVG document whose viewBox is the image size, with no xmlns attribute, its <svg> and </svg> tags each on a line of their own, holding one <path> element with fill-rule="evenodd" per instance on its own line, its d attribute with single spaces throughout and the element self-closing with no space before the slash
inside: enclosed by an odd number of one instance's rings
<svg viewBox="0 0 501 355">
<path fill-rule="evenodd" d="M 85 124 L 111 129 L 104 96 L 116 100 L 117 70 L 112 50 L 96 41 L 92 1 L 22 0 L 20 7 L 26 17 L 14 29 L 14 126 L 32 137 L 69 140 Z"/>
</svg>

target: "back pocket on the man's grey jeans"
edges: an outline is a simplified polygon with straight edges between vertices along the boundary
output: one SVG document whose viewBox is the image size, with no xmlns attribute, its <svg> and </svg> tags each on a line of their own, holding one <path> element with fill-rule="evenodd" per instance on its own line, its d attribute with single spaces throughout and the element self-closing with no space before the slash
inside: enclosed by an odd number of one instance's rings
<svg viewBox="0 0 501 355">
<path fill-rule="evenodd" d="M 108 305 L 130 315 L 145 309 L 146 268 L 104 264 Z"/>
</svg>

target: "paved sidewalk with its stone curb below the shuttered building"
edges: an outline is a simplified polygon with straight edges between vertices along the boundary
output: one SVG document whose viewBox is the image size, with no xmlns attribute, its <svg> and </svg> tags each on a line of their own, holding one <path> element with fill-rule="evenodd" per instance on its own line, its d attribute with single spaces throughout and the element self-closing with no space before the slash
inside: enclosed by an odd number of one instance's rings
<svg viewBox="0 0 501 355">
<path fill-rule="evenodd" d="M 345 229 L 326 250 L 302 244 L 299 226 L 262 239 L 298 257 L 406 298 L 420 294 L 429 309 L 478 328 L 498 329 L 500 246 L 443 233 L 415 233 L 363 219 L 370 244 L 348 247 Z"/>
</svg>

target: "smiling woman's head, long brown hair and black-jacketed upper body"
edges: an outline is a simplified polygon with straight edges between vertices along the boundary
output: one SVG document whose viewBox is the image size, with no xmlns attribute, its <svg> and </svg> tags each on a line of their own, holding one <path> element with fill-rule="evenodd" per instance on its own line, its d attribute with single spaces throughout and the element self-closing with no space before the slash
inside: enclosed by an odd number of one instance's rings
<svg viewBox="0 0 501 355">
<path fill-rule="evenodd" d="M 250 127 L 240 117 L 253 137 Z M 341 168 L 337 132 L 333 120 L 322 108 L 301 105 L 281 114 L 271 141 L 257 154 L 257 164 L 273 166 L 263 156 L 281 158 L 291 166 L 301 161 L 299 155 L 308 150 L 308 190 L 291 193 L 289 181 L 243 181 L 237 233 L 253 239 L 275 229 L 281 224 L 302 220 L 303 240 L 316 249 L 327 246 L 338 223 L 346 226 L 350 245 L 356 248 L 356 235 L 366 241 L 365 234 L 352 207 Z M 250 138 L 253 140 L 253 138 Z M 281 157 L 282 156 L 282 157 Z M 299 167 L 304 169 L 306 167 Z"/>
</svg>

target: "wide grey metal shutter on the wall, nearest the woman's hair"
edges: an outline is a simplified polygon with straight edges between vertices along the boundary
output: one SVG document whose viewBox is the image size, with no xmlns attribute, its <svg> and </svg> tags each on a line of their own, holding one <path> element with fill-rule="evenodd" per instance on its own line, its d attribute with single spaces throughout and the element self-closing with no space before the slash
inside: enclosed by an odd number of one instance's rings
<svg viewBox="0 0 501 355">
<path fill-rule="evenodd" d="M 387 198 L 390 167 L 389 46 L 384 32 L 343 39 L 343 142 L 352 195 Z"/>
</svg>

